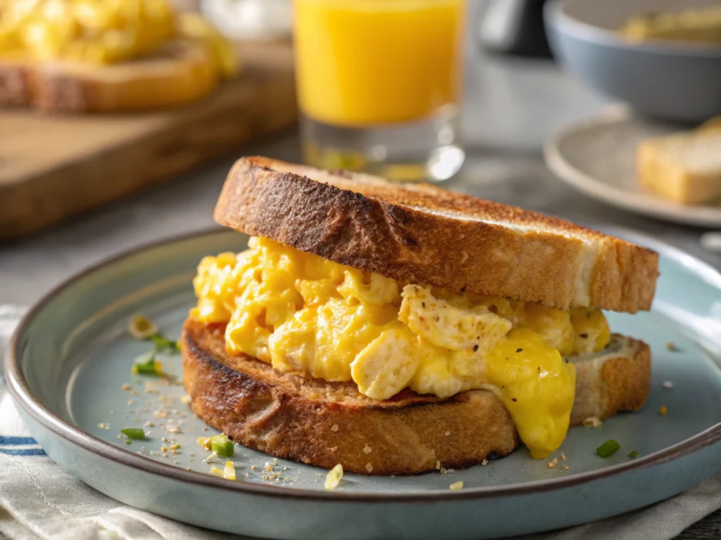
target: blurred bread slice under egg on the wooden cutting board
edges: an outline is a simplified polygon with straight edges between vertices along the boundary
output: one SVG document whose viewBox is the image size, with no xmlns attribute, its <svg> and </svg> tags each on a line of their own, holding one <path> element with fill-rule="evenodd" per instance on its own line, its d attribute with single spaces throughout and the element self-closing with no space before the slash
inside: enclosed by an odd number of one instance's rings
<svg viewBox="0 0 721 540">
<path fill-rule="evenodd" d="M 112 65 L 0 57 L 0 107 L 48 112 L 123 112 L 193 102 L 218 84 L 211 52 L 175 40 L 154 55 Z"/>
</svg>

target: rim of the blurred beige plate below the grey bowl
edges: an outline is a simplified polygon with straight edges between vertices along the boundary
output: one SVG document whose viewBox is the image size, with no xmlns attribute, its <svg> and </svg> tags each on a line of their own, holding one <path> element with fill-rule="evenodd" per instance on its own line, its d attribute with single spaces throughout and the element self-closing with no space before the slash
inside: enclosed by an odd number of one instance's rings
<svg viewBox="0 0 721 540">
<path fill-rule="evenodd" d="M 702 204 L 685 206 L 654 197 L 652 194 L 624 191 L 573 166 L 560 149 L 564 140 L 582 130 L 588 130 L 590 127 L 598 125 L 621 124 L 633 119 L 632 113 L 622 109 L 570 122 L 554 132 L 544 143 L 544 161 L 559 180 L 576 191 L 613 207 L 634 214 L 655 217 L 665 222 L 683 223 L 696 227 L 721 227 L 721 207 Z"/>
</svg>

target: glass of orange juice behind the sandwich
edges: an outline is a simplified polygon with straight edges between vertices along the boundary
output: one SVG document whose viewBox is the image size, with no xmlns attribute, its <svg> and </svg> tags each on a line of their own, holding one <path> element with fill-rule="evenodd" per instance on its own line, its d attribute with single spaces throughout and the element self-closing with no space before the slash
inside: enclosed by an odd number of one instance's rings
<svg viewBox="0 0 721 540">
<path fill-rule="evenodd" d="M 398 180 L 459 170 L 466 0 L 294 0 L 307 163 Z"/>
</svg>

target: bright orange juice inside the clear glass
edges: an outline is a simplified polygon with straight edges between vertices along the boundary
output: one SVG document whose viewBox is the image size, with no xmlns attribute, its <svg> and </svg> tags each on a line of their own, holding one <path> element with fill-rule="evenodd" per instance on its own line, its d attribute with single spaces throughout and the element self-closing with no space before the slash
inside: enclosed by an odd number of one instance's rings
<svg viewBox="0 0 721 540">
<path fill-rule="evenodd" d="M 465 9 L 465 0 L 295 0 L 301 110 L 354 127 L 457 104 Z"/>
</svg>

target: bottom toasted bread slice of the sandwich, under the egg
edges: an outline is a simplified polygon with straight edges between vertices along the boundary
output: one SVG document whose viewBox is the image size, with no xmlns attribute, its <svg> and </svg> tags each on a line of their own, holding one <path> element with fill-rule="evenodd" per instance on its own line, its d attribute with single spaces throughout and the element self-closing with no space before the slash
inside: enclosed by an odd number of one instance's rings
<svg viewBox="0 0 721 540">
<path fill-rule="evenodd" d="M 326 469 L 341 463 L 360 474 L 470 467 L 518 446 L 513 420 L 491 392 L 441 399 L 403 390 L 376 401 L 353 382 L 306 379 L 250 356 L 228 356 L 223 336 L 222 326 L 185 321 L 183 379 L 193 412 L 244 446 Z M 614 335 L 602 354 L 575 363 L 572 423 L 645 403 L 650 384 L 645 343 Z"/>
</svg>

